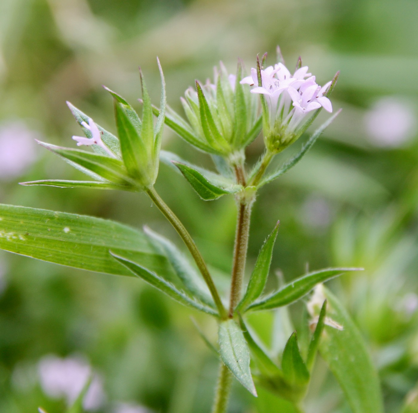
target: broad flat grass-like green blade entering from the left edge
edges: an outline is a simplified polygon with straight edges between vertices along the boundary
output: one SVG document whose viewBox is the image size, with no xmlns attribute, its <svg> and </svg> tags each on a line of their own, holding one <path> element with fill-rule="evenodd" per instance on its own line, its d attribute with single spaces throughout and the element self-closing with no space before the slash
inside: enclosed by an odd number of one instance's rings
<svg viewBox="0 0 418 413">
<path fill-rule="evenodd" d="M 0 249 L 55 264 L 132 275 L 109 249 L 157 272 L 172 273 L 140 231 L 86 215 L 0 204 Z"/>
</svg>

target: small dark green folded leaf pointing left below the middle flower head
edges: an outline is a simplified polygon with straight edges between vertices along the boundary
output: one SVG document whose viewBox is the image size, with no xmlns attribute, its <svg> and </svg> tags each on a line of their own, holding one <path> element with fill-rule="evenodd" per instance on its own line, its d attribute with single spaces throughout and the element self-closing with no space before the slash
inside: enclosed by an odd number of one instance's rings
<svg viewBox="0 0 418 413">
<path fill-rule="evenodd" d="M 198 193 L 200 198 L 205 201 L 214 200 L 226 194 L 236 194 L 243 189 L 242 185 L 236 184 L 231 184 L 225 187 L 221 186 L 218 183 L 214 183 L 213 181 L 211 182 L 197 169 L 180 162 L 172 162 L 176 165 L 176 167 L 178 167 L 178 169 L 180 169 L 183 176 L 189 181 L 189 184 Z"/>
</svg>

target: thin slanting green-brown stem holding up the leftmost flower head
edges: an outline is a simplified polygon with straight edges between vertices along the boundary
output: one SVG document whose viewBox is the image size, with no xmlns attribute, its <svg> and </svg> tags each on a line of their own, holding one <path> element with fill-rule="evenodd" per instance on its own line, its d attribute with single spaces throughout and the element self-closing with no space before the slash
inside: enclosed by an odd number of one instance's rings
<svg viewBox="0 0 418 413">
<path fill-rule="evenodd" d="M 154 187 L 147 188 L 146 192 L 148 196 L 153 200 L 153 203 L 157 205 L 158 209 L 168 219 L 168 221 L 177 231 L 178 235 L 180 235 L 184 244 L 186 244 L 187 248 L 189 249 L 191 255 L 194 258 L 194 261 L 196 262 L 197 267 L 199 268 L 199 271 L 201 272 L 207 286 L 209 287 L 209 291 L 211 292 L 213 300 L 218 308 L 219 316 L 222 319 L 227 318 L 227 313 L 219 297 L 218 290 L 216 289 L 215 284 L 212 280 L 212 277 L 209 274 L 209 270 L 206 267 L 206 263 L 204 262 L 204 259 L 201 256 L 199 250 L 197 249 L 197 246 L 195 242 L 193 241 L 193 239 L 191 238 L 189 232 L 186 230 L 186 228 L 181 223 L 181 221 L 177 218 L 177 216 L 173 213 L 173 211 L 168 207 L 168 205 L 161 199 L 160 195 L 158 195 Z"/>
</svg>

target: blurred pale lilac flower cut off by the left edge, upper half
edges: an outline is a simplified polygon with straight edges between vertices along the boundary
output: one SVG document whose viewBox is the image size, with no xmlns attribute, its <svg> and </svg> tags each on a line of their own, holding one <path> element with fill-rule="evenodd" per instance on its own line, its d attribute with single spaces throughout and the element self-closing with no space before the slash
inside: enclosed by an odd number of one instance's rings
<svg viewBox="0 0 418 413">
<path fill-rule="evenodd" d="M 20 176 L 35 162 L 37 138 L 22 121 L 0 125 L 0 180 Z"/>
</svg>

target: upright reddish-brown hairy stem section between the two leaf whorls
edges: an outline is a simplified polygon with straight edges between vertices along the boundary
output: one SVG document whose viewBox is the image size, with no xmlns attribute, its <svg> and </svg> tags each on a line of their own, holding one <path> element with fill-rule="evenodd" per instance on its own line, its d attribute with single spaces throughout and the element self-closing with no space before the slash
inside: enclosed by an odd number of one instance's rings
<svg viewBox="0 0 418 413">
<path fill-rule="evenodd" d="M 242 199 L 238 203 L 237 231 L 235 234 L 234 260 L 232 264 L 231 297 L 229 300 L 229 318 L 241 299 L 242 280 L 247 259 L 248 237 L 250 233 L 250 216 L 254 199 Z"/>
</svg>

